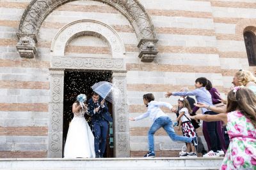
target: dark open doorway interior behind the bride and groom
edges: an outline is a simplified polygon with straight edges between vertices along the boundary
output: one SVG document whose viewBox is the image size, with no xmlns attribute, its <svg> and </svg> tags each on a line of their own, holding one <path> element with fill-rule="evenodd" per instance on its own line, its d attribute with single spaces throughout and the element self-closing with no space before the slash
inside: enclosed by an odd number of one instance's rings
<svg viewBox="0 0 256 170">
<path fill-rule="evenodd" d="M 64 101 L 63 101 L 63 151 L 65 141 L 67 138 L 68 125 L 74 117 L 72 113 L 72 104 L 76 101 L 76 97 L 79 94 L 85 94 L 87 101 L 92 97 L 92 85 L 99 81 L 112 80 L 112 73 L 110 71 L 65 71 L 64 74 Z M 109 113 L 113 117 L 112 104 L 108 103 Z M 91 120 L 89 115 L 85 115 L 85 118 L 90 125 Z M 114 157 L 113 152 L 113 124 L 109 124 L 109 132 L 107 138 L 106 152 L 104 157 Z"/>
</svg>

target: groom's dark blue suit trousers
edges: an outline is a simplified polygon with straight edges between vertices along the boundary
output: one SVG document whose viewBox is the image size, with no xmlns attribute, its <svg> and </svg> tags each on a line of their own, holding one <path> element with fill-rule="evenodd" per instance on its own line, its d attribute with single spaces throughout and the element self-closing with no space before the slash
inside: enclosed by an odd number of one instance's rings
<svg viewBox="0 0 256 170">
<path fill-rule="evenodd" d="M 94 148 L 96 155 L 103 156 L 108 136 L 108 122 L 105 120 L 93 121 Z"/>
</svg>

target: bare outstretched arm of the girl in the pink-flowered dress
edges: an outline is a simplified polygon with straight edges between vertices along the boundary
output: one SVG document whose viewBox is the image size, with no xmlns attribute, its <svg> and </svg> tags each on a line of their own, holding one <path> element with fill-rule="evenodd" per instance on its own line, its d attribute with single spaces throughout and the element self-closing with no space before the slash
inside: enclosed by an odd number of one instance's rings
<svg viewBox="0 0 256 170">
<path fill-rule="evenodd" d="M 222 121 L 224 124 L 227 124 L 227 113 L 220 113 L 218 115 L 202 115 L 198 114 L 195 116 L 189 116 L 192 119 L 200 119 L 204 120 L 205 122 L 215 122 L 215 121 Z"/>
</svg>

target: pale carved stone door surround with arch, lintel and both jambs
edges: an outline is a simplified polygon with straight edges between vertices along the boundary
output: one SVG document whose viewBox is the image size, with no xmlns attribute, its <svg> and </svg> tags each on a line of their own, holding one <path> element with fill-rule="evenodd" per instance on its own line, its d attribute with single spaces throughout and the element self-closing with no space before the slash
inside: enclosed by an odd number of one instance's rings
<svg viewBox="0 0 256 170">
<path fill-rule="evenodd" d="M 94 32 L 108 41 L 112 58 L 89 58 L 64 56 L 65 46 L 70 38 L 77 34 Z M 51 102 L 49 104 L 49 148 L 48 157 L 62 156 L 63 135 L 63 84 L 65 69 L 107 70 L 112 72 L 112 82 L 121 90 L 122 106 L 113 106 L 114 154 L 115 157 L 129 157 L 129 124 L 126 104 L 125 80 L 125 48 L 115 30 L 95 20 L 78 20 L 63 27 L 52 41 L 51 46 L 50 87 Z"/>
</svg>

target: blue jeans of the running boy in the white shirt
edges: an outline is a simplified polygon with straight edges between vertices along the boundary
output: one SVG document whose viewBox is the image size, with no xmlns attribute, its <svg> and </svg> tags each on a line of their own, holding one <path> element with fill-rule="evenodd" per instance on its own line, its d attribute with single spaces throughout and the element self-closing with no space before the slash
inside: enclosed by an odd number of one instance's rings
<svg viewBox="0 0 256 170">
<path fill-rule="evenodd" d="M 184 141 L 186 143 L 191 143 L 193 138 L 188 138 L 186 136 L 178 136 L 175 134 L 172 120 L 169 117 L 159 117 L 157 118 L 148 131 L 148 149 L 149 152 L 154 152 L 154 134 L 155 132 L 163 127 L 163 129 L 167 132 L 170 138 L 173 141 Z"/>
</svg>

